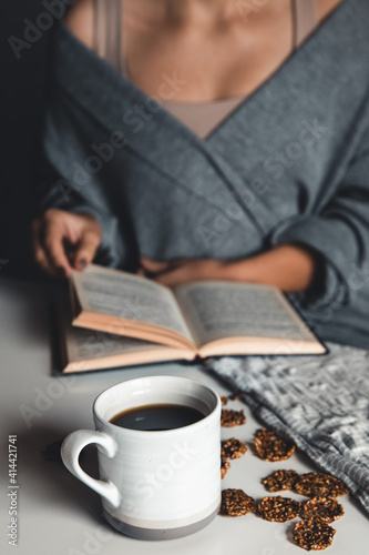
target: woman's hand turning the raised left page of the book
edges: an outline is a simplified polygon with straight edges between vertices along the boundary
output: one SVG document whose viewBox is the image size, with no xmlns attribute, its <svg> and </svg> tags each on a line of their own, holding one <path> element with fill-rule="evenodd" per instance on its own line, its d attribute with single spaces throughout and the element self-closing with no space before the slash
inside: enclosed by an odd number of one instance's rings
<svg viewBox="0 0 369 555">
<path fill-rule="evenodd" d="M 69 278 L 93 261 L 100 245 L 100 223 L 86 213 L 47 210 L 32 222 L 33 253 L 38 264 L 53 276 Z"/>
</svg>

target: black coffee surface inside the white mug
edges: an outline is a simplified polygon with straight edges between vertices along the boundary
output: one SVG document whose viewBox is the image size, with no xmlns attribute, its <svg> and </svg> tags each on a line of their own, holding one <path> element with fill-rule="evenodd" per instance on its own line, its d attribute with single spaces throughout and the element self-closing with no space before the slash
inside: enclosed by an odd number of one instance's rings
<svg viewBox="0 0 369 555">
<path fill-rule="evenodd" d="M 197 408 L 186 405 L 157 404 L 135 406 L 113 416 L 116 426 L 146 432 L 161 432 L 188 426 L 204 418 Z"/>
</svg>

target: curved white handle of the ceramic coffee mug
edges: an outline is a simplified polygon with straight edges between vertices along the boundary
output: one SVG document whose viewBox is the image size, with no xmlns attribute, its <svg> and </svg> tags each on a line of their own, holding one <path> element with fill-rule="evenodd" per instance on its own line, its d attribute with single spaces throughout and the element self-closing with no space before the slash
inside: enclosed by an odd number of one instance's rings
<svg viewBox="0 0 369 555">
<path fill-rule="evenodd" d="M 117 450 L 115 440 L 104 432 L 94 432 L 92 430 L 79 430 L 70 434 L 61 447 L 61 457 L 66 468 L 91 490 L 99 493 L 113 507 L 117 508 L 121 504 L 121 494 L 117 487 L 109 480 L 95 480 L 89 476 L 80 466 L 79 457 L 83 447 L 90 444 L 101 447 L 101 451 L 112 458 Z"/>
</svg>

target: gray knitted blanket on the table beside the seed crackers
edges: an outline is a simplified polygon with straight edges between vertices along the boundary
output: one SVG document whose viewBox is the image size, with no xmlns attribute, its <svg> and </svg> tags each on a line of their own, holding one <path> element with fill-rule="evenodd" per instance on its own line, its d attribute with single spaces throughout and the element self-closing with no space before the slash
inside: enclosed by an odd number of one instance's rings
<svg viewBox="0 0 369 555">
<path fill-rule="evenodd" d="M 326 356 L 223 357 L 205 364 L 266 425 L 291 437 L 369 514 L 369 352 L 328 344 Z"/>
</svg>

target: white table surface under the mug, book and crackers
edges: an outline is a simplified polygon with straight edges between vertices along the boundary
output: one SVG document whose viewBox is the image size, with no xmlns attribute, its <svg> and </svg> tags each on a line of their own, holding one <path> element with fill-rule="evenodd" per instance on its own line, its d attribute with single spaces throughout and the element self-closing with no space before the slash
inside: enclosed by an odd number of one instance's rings
<svg viewBox="0 0 369 555">
<path fill-rule="evenodd" d="M 156 364 L 54 377 L 49 339 L 48 304 L 54 293 L 6 279 L 0 280 L 0 426 L 1 501 L 0 553 L 20 555 L 285 555 L 305 553 L 291 544 L 291 523 L 269 523 L 246 515 L 237 518 L 216 516 L 203 531 L 181 539 L 142 542 L 112 531 L 101 517 L 99 496 L 74 478 L 61 464 L 44 458 L 42 451 L 78 428 L 90 428 L 92 402 L 104 389 L 141 375 L 185 375 L 209 384 L 218 393 L 228 390 L 216 379 L 191 365 Z M 40 398 L 43 405 L 37 408 Z M 48 401 L 49 400 L 49 401 Z M 27 424 L 21 410 L 38 412 Z M 240 401 L 229 407 L 243 407 L 245 426 L 223 428 L 223 436 L 250 442 L 258 424 Z M 8 435 L 18 436 L 18 547 L 7 537 L 8 515 Z M 250 450 L 232 462 L 223 487 L 240 487 L 260 498 L 267 495 L 260 480 L 278 468 L 297 472 L 316 470 L 303 455 L 283 463 L 267 463 Z M 301 500 L 290 492 L 287 496 Z M 337 529 L 331 555 L 369 553 L 369 522 L 349 496 L 341 498 L 345 516 L 334 523 Z"/>
</svg>

